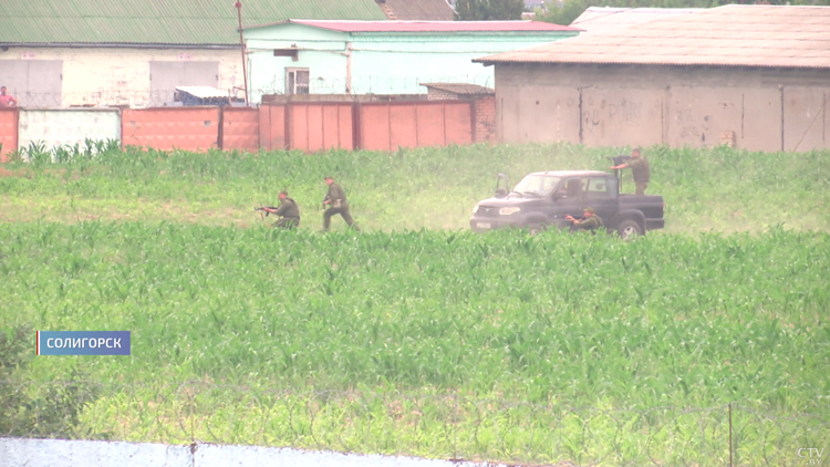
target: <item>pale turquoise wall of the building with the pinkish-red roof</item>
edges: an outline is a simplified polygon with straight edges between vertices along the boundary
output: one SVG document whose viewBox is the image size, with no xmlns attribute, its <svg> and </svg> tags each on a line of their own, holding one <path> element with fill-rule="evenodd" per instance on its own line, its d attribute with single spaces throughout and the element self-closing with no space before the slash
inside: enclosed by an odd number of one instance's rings
<svg viewBox="0 0 830 467">
<path fill-rule="evenodd" d="M 424 94 L 425 82 L 492 87 L 492 68 L 473 59 L 575 35 L 564 31 L 341 33 L 302 24 L 246 29 L 252 100 L 283 93 L 286 70 L 308 69 L 311 93 Z M 349 44 L 349 45 L 347 45 Z M 297 56 L 274 56 L 295 49 Z"/>
</svg>

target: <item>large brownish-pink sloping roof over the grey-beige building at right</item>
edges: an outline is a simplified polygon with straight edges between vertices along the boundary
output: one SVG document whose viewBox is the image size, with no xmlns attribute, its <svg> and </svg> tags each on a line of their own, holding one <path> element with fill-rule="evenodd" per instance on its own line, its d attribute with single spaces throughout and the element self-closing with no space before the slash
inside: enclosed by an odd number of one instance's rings
<svg viewBox="0 0 830 467">
<path fill-rule="evenodd" d="M 474 62 L 830 69 L 830 7 L 718 7 Z"/>
</svg>

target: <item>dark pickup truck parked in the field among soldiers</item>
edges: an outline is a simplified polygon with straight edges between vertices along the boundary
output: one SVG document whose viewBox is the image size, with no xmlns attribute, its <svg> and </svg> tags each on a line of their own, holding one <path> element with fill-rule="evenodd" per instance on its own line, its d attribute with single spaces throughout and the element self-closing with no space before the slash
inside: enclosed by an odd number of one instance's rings
<svg viewBox="0 0 830 467">
<path fill-rule="evenodd" d="M 506 179 L 502 174 L 499 178 Z M 469 225 L 478 232 L 517 227 L 536 234 L 553 226 L 569 228 L 566 216 L 579 218 L 587 207 L 624 239 L 665 225 L 662 196 L 621 195 L 619 178 L 599 170 L 537 172 L 509 193 L 497 184 L 496 196 L 473 208 Z"/>
</svg>

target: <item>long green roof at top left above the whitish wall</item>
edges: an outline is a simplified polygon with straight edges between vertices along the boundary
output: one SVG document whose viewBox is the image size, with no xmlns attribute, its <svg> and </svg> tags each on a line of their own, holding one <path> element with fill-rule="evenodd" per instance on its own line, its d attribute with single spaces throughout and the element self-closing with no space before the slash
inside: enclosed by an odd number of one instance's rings
<svg viewBox="0 0 830 467">
<path fill-rule="evenodd" d="M 289 18 L 384 20 L 374 0 L 242 0 L 247 24 Z M 232 0 L 14 0 L 0 7 L 0 44 L 238 45 Z"/>
</svg>

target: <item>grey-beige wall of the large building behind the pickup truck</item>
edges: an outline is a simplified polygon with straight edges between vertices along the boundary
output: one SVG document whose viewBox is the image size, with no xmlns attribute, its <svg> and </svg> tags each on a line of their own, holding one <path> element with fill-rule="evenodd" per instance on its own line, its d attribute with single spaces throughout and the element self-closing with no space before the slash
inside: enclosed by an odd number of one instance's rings
<svg viewBox="0 0 830 467">
<path fill-rule="evenodd" d="M 830 71 L 497 65 L 502 142 L 830 147 Z"/>
</svg>

